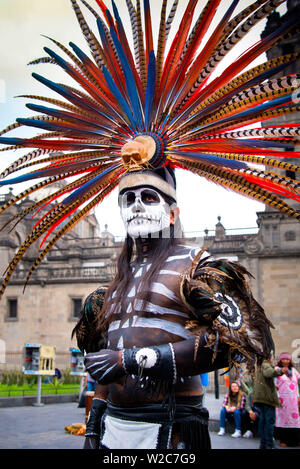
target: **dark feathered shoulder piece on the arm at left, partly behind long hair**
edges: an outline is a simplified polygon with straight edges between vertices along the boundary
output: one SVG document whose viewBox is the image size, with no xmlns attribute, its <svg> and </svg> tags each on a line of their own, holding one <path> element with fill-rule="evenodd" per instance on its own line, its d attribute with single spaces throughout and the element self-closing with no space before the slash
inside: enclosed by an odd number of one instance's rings
<svg viewBox="0 0 300 469">
<path fill-rule="evenodd" d="M 80 319 L 72 331 L 72 338 L 76 335 L 77 345 L 82 353 L 97 352 L 106 348 L 106 331 L 97 327 L 105 293 L 106 288 L 100 287 L 86 298 Z"/>
</svg>

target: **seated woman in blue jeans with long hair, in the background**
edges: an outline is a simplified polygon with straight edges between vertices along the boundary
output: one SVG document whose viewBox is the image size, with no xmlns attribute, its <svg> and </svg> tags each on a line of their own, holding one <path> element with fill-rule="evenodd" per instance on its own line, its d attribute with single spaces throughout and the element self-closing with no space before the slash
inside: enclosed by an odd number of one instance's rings
<svg viewBox="0 0 300 469">
<path fill-rule="evenodd" d="M 245 404 L 245 393 L 240 389 L 239 384 L 233 381 L 230 385 L 229 392 L 224 398 L 220 412 L 219 436 L 225 435 L 226 419 L 233 419 L 235 423 L 235 431 L 231 436 L 233 438 L 240 438 L 242 436 L 242 410 L 245 408 Z"/>
</svg>

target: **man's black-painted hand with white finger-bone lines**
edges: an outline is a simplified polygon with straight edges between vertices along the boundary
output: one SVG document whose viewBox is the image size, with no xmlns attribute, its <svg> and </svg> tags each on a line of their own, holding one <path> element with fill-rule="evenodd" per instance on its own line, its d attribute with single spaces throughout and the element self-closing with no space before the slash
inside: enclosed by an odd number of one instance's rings
<svg viewBox="0 0 300 469">
<path fill-rule="evenodd" d="M 122 366 L 122 352 L 103 349 L 88 353 L 84 357 L 86 371 L 99 384 L 110 384 L 121 378 L 125 371 Z"/>
</svg>

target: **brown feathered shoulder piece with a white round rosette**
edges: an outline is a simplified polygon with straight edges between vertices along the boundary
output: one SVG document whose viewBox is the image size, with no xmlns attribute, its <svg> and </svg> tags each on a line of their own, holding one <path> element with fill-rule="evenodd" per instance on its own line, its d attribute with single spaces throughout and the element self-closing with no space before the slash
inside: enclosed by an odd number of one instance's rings
<svg viewBox="0 0 300 469">
<path fill-rule="evenodd" d="M 254 364 L 274 350 L 274 326 L 255 300 L 249 286 L 252 276 L 242 265 L 204 257 L 201 251 L 181 283 L 181 296 L 191 312 L 186 325 L 193 334 L 206 335 L 208 346 L 229 345 L 231 362 Z M 197 341 L 196 341 L 197 343 Z"/>
</svg>

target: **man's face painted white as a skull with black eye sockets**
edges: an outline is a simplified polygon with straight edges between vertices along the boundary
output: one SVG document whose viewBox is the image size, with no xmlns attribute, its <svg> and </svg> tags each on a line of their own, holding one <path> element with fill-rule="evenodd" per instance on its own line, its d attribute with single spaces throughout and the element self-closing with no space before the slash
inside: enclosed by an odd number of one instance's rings
<svg viewBox="0 0 300 469">
<path fill-rule="evenodd" d="M 170 226 L 170 207 L 154 189 L 130 189 L 119 196 L 121 217 L 132 238 L 146 237 Z"/>
</svg>

